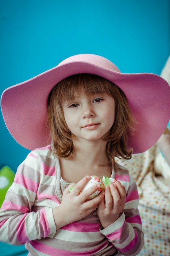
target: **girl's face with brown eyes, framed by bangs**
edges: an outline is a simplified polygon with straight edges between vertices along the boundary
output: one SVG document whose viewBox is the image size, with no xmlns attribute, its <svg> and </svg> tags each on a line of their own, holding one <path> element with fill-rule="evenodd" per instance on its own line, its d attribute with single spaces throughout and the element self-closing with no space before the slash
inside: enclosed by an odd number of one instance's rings
<svg viewBox="0 0 170 256">
<path fill-rule="evenodd" d="M 104 138 L 115 120 L 115 101 L 107 94 L 74 94 L 62 103 L 64 118 L 76 139 L 96 141 Z"/>
</svg>

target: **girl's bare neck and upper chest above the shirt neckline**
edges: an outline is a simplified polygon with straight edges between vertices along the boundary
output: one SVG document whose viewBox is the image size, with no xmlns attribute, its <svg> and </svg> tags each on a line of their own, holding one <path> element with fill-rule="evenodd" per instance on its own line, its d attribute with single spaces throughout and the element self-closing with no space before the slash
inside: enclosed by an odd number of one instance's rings
<svg viewBox="0 0 170 256">
<path fill-rule="evenodd" d="M 60 159 L 62 178 L 77 183 L 86 175 L 110 176 L 112 166 L 106 156 L 106 143 L 75 143 L 72 157 Z"/>
</svg>

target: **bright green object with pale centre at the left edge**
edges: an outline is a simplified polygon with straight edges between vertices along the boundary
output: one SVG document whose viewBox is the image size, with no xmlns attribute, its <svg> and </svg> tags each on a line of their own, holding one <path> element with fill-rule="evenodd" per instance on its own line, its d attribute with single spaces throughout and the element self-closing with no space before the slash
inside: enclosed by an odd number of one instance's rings
<svg viewBox="0 0 170 256">
<path fill-rule="evenodd" d="M 4 166 L 0 170 L 0 207 L 5 199 L 7 190 L 13 183 L 15 173 L 8 167 Z"/>
</svg>

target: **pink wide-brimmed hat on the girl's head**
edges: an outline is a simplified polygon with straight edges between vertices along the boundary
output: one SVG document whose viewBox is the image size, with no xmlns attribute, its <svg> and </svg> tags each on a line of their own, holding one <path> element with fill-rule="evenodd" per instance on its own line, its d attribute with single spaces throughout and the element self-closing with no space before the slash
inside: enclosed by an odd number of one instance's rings
<svg viewBox="0 0 170 256">
<path fill-rule="evenodd" d="M 23 147 L 33 150 L 51 143 L 47 126 L 47 99 L 52 88 L 73 74 L 90 73 L 115 83 L 126 95 L 137 124 L 128 135 L 133 153 L 154 145 L 170 119 L 170 86 L 155 74 L 123 74 L 108 59 L 94 54 L 66 58 L 56 67 L 2 93 L 5 124 Z"/>
</svg>

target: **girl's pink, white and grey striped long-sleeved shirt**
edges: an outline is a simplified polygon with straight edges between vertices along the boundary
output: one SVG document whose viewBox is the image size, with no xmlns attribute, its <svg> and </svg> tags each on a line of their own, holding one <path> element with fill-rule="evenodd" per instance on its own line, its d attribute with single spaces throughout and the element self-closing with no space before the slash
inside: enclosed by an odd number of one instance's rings
<svg viewBox="0 0 170 256">
<path fill-rule="evenodd" d="M 124 167 L 122 167 L 124 168 Z M 137 186 L 127 170 L 112 176 L 125 186 L 120 217 L 103 229 L 97 211 L 56 229 L 52 208 L 60 205 L 66 182 L 51 146 L 31 151 L 20 164 L 0 209 L 0 240 L 25 244 L 29 255 L 137 255 L 144 244 Z"/>
</svg>

